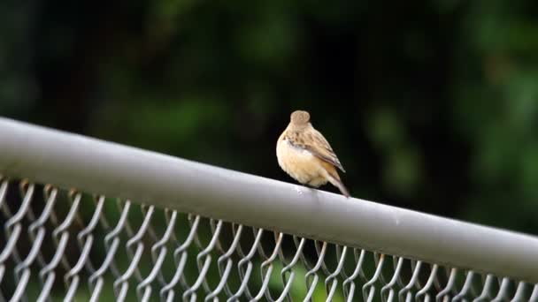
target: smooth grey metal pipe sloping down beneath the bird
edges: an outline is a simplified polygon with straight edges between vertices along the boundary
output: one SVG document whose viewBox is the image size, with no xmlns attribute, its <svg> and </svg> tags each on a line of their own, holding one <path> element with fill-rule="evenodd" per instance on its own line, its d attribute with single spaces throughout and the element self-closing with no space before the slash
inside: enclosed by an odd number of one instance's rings
<svg viewBox="0 0 538 302">
<path fill-rule="evenodd" d="M 538 283 L 536 237 L 346 199 L 2 117 L 0 173 Z"/>
</svg>

